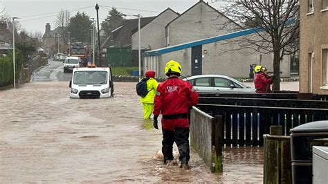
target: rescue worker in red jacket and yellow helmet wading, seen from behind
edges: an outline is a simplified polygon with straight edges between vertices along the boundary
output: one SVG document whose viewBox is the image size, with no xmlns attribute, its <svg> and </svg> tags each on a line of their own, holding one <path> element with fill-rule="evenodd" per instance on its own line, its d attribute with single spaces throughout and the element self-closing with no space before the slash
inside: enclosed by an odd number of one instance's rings
<svg viewBox="0 0 328 184">
<path fill-rule="evenodd" d="M 162 122 L 162 152 L 164 164 L 173 164 L 173 143 L 179 149 L 181 168 L 190 169 L 189 147 L 189 109 L 199 102 L 196 90 L 187 81 L 179 79 L 181 66 L 171 60 L 165 66 L 165 75 L 168 79 L 157 87 L 154 102 L 154 128 L 158 129 L 158 116 L 163 115 Z"/>
</svg>

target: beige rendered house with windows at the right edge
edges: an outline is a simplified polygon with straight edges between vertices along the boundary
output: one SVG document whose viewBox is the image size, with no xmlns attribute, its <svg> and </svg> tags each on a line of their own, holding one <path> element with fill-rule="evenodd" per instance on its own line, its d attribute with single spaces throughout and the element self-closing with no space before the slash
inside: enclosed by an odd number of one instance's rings
<svg viewBox="0 0 328 184">
<path fill-rule="evenodd" d="M 328 0 L 300 1 L 300 92 L 328 94 Z"/>
</svg>

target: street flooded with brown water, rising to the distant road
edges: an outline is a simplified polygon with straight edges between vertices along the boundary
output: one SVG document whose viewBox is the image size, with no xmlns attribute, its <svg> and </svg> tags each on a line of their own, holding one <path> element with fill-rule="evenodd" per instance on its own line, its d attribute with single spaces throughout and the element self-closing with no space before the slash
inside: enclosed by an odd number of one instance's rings
<svg viewBox="0 0 328 184">
<path fill-rule="evenodd" d="M 223 174 L 193 151 L 188 171 L 163 165 L 161 131 L 143 120 L 135 83 L 116 82 L 113 98 L 73 100 L 70 77 L 49 61 L 32 82 L 0 91 L 0 183 L 262 183 L 262 147 L 224 149 Z"/>
</svg>

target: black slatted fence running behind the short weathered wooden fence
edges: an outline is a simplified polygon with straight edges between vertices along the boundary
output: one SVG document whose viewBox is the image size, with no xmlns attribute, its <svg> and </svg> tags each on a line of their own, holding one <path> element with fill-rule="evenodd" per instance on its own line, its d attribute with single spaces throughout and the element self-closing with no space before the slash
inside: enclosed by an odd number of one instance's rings
<svg viewBox="0 0 328 184">
<path fill-rule="evenodd" d="M 200 100 L 202 101 L 202 100 Z M 214 100 L 211 100 L 214 102 Z M 225 100 L 227 102 L 227 100 Z M 224 102 L 222 102 L 224 103 Z M 256 105 L 256 102 L 253 102 Z M 269 107 L 236 104 L 197 104 L 211 116 L 223 118 L 223 143 L 226 145 L 262 146 L 263 135 L 271 125 L 282 125 L 283 135 L 298 125 L 317 120 L 328 120 L 328 109 L 304 107 Z"/>
</svg>

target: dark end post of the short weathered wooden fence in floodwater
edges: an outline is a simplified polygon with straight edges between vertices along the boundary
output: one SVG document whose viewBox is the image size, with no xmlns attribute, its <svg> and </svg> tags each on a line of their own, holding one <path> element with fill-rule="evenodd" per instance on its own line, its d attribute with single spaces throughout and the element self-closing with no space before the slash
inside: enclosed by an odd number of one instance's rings
<svg viewBox="0 0 328 184">
<path fill-rule="evenodd" d="M 223 172 L 222 168 L 222 133 L 223 122 L 222 116 L 215 116 L 212 121 L 212 140 L 214 139 L 214 145 L 212 145 L 212 172 Z"/>
</svg>

